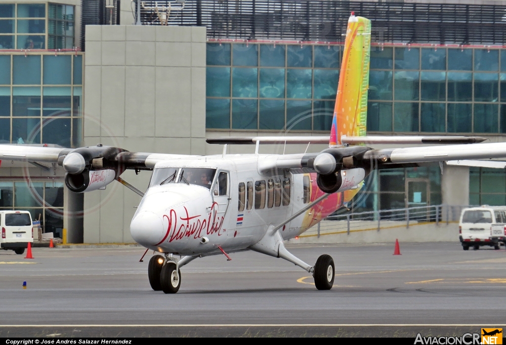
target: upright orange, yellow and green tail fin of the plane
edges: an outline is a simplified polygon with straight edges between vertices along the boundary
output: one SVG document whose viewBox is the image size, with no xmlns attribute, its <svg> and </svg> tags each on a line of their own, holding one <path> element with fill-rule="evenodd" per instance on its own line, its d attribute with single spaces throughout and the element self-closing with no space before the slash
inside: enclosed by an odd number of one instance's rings
<svg viewBox="0 0 506 345">
<path fill-rule="evenodd" d="M 329 146 L 341 144 L 341 136 L 365 136 L 371 21 L 355 17 L 348 20 L 346 41 L 335 97 Z"/>
</svg>

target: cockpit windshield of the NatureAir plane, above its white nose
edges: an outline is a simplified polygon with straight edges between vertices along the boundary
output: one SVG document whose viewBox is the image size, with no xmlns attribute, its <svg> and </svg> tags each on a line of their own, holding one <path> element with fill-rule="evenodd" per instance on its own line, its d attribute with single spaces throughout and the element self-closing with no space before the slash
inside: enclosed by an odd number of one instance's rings
<svg viewBox="0 0 506 345">
<path fill-rule="evenodd" d="M 189 185 L 198 185 L 210 189 L 215 174 L 216 169 L 210 168 L 156 168 L 153 170 L 149 187 L 167 183 L 187 183 Z"/>
</svg>

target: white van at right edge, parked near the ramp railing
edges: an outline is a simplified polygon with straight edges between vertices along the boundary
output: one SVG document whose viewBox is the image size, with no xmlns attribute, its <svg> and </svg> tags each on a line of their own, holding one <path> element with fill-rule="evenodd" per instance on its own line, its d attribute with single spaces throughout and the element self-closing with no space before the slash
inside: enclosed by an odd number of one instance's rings
<svg viewBox="0 0 506 345">
<path fill-rule="evenodd" d="M 458 233 L 464 250 L 477 250 L 482 245 L 499 249 L 506 243 L 506 206 L 470 207 L 462 210 Z"/>
</svg>

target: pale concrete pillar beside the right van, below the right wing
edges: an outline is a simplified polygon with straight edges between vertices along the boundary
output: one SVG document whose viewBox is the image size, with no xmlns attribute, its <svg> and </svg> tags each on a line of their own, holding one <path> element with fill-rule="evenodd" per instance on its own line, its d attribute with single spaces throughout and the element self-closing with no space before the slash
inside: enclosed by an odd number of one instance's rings
<svg viewBox="0 0 506 345">
<path fill-rule="evenodd" d="M 462 207 L 469 205 L 469 167 L 468 166 L 443 166 L 441 177 L 441 196 L 444 205 L 443 221 L 456 221 L 460 216 Z"/>
</svg>

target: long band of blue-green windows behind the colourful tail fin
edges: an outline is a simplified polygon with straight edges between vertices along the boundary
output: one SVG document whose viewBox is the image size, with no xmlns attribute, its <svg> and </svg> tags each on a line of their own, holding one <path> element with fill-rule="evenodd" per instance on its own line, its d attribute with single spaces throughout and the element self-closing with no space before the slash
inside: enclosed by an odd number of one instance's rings
<svg viewBox="0 0 506 345">
<path fill-rule="evenodd" d="M 208 43 L 206 127 L 329 131 L 341 54 Z M 368 101 L 369 133 L 506 133 L 506 50 L 371 47 Z"/>
</svg>

